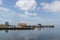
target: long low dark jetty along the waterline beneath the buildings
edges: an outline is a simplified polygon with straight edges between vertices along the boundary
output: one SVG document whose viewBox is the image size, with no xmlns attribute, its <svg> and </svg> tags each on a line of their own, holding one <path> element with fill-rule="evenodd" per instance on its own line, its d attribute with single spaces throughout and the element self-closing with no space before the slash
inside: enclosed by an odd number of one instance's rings
<svg viewBox="0 0 60 40">
<path fill-rule="evenodd" d="M 34 29 L 36 29 L 36 28 L 38 28 L 38 29 L 41 29 L 41 28 L 54 28 L 54 26 L 44 26 L 44 25 L 42 25 L 42 26 L 27 26 L 27 27 L 21 27 L 21 28 L 19 28 L 19 27 L 8 27 L 8 28 L 0 28 L 0 30 L 34 30 Z"/>
</svg>

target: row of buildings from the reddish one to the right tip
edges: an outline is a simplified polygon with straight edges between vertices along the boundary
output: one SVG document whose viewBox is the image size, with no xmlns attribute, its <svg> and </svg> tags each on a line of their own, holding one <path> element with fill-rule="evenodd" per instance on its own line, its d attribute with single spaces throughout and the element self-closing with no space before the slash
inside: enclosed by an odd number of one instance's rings
<svg viewBox="0 0 60 40">
<path fill-rule="evenodd" d="M 36 25 L 27 25 L 26 23 L 18 23 L 17 27 L 32 27 L 32 28 L 41 28 L 41 27 L 54 27 L 54 25 L 41 25 L 41 24 L 36 24 Z"/>
</svg>

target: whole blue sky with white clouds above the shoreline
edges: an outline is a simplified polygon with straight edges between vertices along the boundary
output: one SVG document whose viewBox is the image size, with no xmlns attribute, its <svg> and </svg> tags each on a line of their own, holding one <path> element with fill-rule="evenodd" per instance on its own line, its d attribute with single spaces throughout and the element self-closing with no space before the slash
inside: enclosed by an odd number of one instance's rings
<svg viewBox="0 0 60 40">
<path fill-rule="evenodd" d="M 60 0 L 0 0 L 0 24 L 60 25 Z"/>
</svg>

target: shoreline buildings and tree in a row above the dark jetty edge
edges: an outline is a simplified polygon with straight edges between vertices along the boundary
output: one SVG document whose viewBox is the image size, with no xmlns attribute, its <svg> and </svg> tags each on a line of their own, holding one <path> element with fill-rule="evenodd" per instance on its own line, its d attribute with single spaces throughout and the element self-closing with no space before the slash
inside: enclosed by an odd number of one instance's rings
<svg viewBox="0 0 60 40">
<path fill-rule="evenodd" d="M 18 23 L 17 26 L 15 25 L 9 25 L 9 22 L 5 22 L 4 25 L 0 25 L 0 27 L 17 27 L 17 28 L 26 28 L 26 27 L 29 27 L 29 28 L 41 28 L 41 27 L 54 27 L 54 25 L 41 25 L 41 24 L 36 24 L 36 25 L 27 25 L 26 23 Z"/>
</svg>

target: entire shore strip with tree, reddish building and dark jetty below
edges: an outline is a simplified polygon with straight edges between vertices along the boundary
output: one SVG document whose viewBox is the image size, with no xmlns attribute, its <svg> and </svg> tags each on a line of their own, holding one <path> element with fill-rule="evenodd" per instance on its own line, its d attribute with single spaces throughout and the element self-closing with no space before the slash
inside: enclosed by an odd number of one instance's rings
<svg viewBox="0 0 60 40">
<path fill-rule="evenodd" d="M 34 29 L 41 29 L 41 28 L 54 28 L 54 25 L 27 25 L 26 23 L 18 23 L 18 25 L 9 25 L 8 22 L 5 24 L 0 24 L 0 30 L 34 30 Z"/>
</svg>

